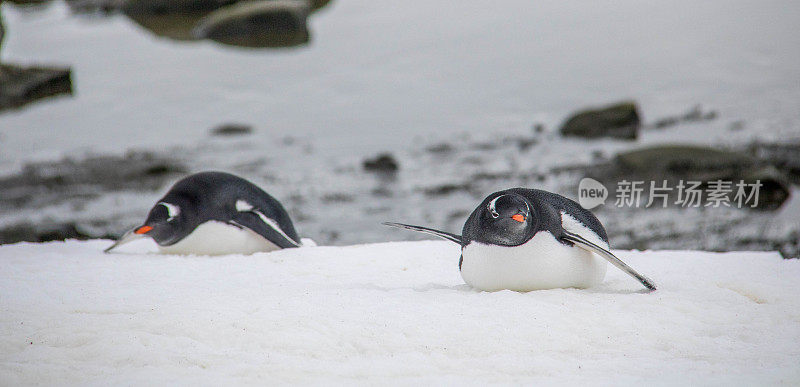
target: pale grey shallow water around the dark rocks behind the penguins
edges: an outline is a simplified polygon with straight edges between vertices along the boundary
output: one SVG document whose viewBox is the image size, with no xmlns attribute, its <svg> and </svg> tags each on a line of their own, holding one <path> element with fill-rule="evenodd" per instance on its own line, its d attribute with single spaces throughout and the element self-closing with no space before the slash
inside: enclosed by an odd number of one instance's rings
<svg viewBox="0 0 800 387">
<path fill-rule="evenodd" d="M 192 171 L 228 170 L 263 185 L 323 243 L 414 238 L 377 227 L 383 220 L 457 231 L 481 197 L 510 185 L 574 197 L 563 190 L 580 176 L 551 170 L 590 164 L 593 154 L 800 138 L 793 1 L 338 0 L 309 19 L 310 44 L 270 50 L 169 40 L 122 15 L 71 14 L 61 2 L 2 7 L 2 59 L 70 65 L 75 82 L 74 97 L 0 114 L 2 173 L 65 156 L 169 154 Z M 638 101 L 646 123 L 696 104 L 718 118 L 645 131 L 635 142 L 557 135 L 569 112 L 626 98 Z M 253 125 L 254 133 L 209 134 L 227 122 Z M 535 123 L 544 133 L 532 133 Z M 742 129 L 731 130 L 736 125 Z M 523 151 L 514 145 L 520 138 L 533 145 Z M 455 150 L 425 150 L 441 143 Z M 383 151 L 400 162 L 394 178 L 361 170 Z M 104 219 L 101 228 L 121 232 L 165 189 L 22 208 L 0 222 Z M 686 218 L 643 213 L 642 227 L 664 217 Z M 709 248 L 717 245 L 725 243 Z"/>
</svg>

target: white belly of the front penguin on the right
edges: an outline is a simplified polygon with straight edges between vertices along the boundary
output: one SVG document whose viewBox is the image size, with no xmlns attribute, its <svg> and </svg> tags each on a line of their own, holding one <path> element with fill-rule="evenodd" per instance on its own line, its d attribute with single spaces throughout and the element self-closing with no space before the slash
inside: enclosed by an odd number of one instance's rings
<svg viewBox="0 0 800 387">
<path fill-rule="evenodd" d="M 606 275 L 603 258 L 564 245 L 545 231 L 514 247 L 472 242 L 462 254 L 464 282 L 485 291 L 588 288 L 603 282 Z"/>
</svg>

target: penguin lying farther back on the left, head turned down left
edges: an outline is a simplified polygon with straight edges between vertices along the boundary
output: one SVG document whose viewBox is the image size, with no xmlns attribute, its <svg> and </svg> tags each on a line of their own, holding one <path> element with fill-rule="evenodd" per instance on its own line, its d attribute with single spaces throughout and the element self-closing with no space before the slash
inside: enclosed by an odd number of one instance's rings
<svg viewBox="0 0 800 387">
<path fill-rule="evenodd" d="M 301 246 L 289 214 L 275 198 L 224 172 L 181 179 L 141 226 L 104 252 L 144 237 L 153 238 L 164 254 L 252 254 Z"/>
</svg>

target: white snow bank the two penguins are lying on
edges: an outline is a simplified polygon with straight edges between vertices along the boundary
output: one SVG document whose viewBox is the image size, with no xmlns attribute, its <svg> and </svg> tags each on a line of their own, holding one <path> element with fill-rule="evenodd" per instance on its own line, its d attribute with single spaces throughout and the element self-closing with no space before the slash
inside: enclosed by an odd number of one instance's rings
<svg viewBox="0 0 800 387">
<path fill-rule="evenodd" d="M 800 261 L 616 251 L 586 290 L 478 292 L 444 241 L 163 256 L 0 246 L 0 384 L 800 383 Z"/>
</svg>

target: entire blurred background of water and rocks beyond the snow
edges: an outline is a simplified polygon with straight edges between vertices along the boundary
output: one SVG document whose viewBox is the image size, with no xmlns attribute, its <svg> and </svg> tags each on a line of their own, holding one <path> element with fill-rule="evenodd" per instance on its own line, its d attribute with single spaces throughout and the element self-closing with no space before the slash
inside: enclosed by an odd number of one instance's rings
<svg viewBox="0 0 800 387">
<path fill-rule="evenodd" d="M 187 173 L 320 244 L 460 232 L 491 192 L 594 209 L 623 249 L 800 255 L 800 3 L 0 4 L 0 243 L 114 238 Z M 622 180 L 761 181 L 756 208 L 618 207 Z M 649 184 L 649 183 L 647 183 Z M 643 201 L 646 202 L 647 192 Z"/>
</svg>

